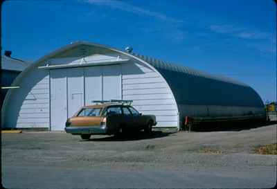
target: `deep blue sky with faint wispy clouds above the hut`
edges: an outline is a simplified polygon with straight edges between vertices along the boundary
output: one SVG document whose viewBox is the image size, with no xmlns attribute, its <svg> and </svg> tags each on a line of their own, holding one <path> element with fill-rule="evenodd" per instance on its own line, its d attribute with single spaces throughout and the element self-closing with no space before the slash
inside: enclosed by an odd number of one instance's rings
<svg viewBox="0 0 277 189">
<path fill-rule="evenodd" d="M 37 60 L 84 40 L 226 75 L 276 100 L 273 0 L 6 1 L 2 52 Z"/>
</svg>

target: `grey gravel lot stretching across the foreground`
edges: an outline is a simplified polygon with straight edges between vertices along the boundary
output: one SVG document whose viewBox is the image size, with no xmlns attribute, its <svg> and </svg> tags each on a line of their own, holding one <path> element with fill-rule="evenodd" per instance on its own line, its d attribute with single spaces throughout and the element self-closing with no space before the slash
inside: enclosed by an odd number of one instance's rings
<svg viewBox="0 0 277 189">
<path fill-rule="evenodd" d="M 271 188 L 276 125 L 239 131 L 156 131 L 127 138 L 64 132 L 2 134 L 6 188 Z"/>
</svg>

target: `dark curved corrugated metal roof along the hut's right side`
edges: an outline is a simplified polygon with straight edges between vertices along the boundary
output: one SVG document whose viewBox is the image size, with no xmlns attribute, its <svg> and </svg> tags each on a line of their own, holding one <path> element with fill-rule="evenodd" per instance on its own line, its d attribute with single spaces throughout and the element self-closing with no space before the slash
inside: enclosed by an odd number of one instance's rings
<svg viewBox="0 0 277 189">
<path fill-rule="evenodd" d="M 163 75 L 177 104 L 264 107 L 258 93 L 242 82 L 152 57 L 130 54 L 148 62 Z"/>
</svg>

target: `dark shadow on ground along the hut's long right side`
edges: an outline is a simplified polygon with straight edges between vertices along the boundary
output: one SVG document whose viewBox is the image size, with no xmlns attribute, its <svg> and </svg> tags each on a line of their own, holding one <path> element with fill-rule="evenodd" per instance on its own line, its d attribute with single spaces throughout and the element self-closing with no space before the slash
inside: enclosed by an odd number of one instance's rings
<svg viewBox="0 0 277 189">
<path fill-rule="evenodd" d="M 276 125 L 277 121 L 267 121 L 266 123 L 217 123 L 217 124 L 206 124 L 206 125 L 196 125 L 191 131 L 192 132 L 240 132 L 247 129 L 255 129 L 258 127 L 267 127 L 269 125 Z"/>
</svg>

